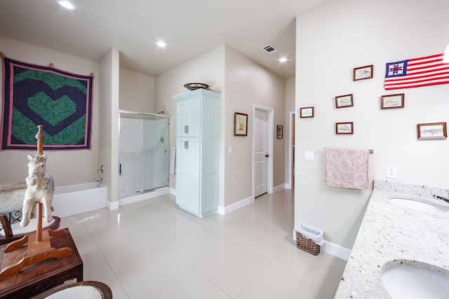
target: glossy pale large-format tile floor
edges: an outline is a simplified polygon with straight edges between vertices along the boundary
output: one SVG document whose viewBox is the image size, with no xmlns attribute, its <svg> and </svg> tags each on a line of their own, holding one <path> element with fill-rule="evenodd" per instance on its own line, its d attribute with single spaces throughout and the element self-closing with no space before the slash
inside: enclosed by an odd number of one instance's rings
<svg viewBox="0 0 449 299">
<path fill-rule="evenodd" d="M 114 299 L 333 298 L 346 261 L 296 248 L 293 194 L 204 219 L 164 195 L 62 218 L 61 227 L 72 233 L 84 280 L 109 285 Z"/>
</svg>

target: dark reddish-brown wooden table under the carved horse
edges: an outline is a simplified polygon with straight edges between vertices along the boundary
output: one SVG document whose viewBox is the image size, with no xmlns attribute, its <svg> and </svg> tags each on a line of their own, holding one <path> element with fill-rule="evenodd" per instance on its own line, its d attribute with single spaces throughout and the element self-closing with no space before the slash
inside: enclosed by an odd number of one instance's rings
<svg viewBox="0 0 449 299">
<path fill-rule="evenodd" d="M 19 274 L 0 280 L 0 298 L 31 298 L 69 279 L 83 281 L 83 260 L 79 256 L 68 228 L 64 237 L 51 238 L 55 248 L 69 247 L 72 255 L 61 259 L 43 260 L 24 267 Z M 7 244 L 6 244 L 7 245 Z M 27 246 L 5 253 L 6 245 L 0 246 L 1 269 L 27 255 Z"/>
</svg>

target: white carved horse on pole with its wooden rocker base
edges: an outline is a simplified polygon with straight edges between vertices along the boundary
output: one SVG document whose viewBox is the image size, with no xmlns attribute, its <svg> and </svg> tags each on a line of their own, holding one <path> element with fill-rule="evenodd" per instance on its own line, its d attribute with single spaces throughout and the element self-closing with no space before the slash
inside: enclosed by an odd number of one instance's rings
<svg viewBox="0 0 449 299">
<path fill-rule="evenodd" d="M 19 249 L 25 244 L 27 246 L 27 255 L 12 265 L 7 265 L 0 271 L 0 279 L 5 279 L 13 274 L 18 274 L 23 267 L 40 263 L 49 258 L 65 258 L 72 254 L 72 249 L 63 247 L 55 249 L 51 246 L 51 237 L 62 237 L 66 234 L 65 230 L 42 229 L 42 205 L 44 208 L 44 221 L 50 223 L 53 219 L 51 216 L 51 201 L 53 200 L 53 178 L 46 175 L 46 155 L 43 153 L 43 132 L 42 125 L 39 125 L 39 131 L 36 134 L 37 154 L 32 157 L 28 155 L 29 175 L 26 179 L 27 191 L 22 209 L 21 226 L 29 223 L 29 214 L 32 205 L 36 204 L 36 232 L 31 232 L 22 239 L 11 242 L 6 246 L 5 252 L 11 252 Z"/>
</svg>

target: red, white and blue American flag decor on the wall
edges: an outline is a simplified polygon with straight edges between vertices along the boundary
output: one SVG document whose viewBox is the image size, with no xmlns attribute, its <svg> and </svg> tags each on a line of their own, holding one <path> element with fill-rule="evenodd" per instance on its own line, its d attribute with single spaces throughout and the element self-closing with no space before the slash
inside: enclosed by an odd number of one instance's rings
<svg viewBox="0 0 449 299">
<path fill-rule="evenodd" d="M 443 53 L 387 63 L 385 90 L 448 83 L 449 64 L 443 63 Z"/>
</svg>

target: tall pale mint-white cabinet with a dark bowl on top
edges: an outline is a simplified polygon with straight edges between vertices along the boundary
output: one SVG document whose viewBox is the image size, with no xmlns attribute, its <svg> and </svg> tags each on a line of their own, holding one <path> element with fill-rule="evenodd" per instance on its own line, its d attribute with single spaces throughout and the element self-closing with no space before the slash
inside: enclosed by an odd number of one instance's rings
<svg viewBox="0 0 449 299">
<path fill-rule="evenodd" d="M 197 89 L 175 95 L 176 203 L 200 218 L 218 206 L 220 94 Z"/>
</svg>

